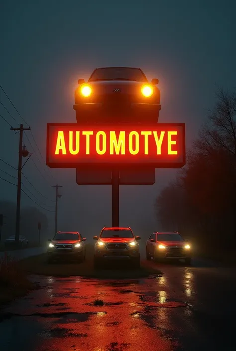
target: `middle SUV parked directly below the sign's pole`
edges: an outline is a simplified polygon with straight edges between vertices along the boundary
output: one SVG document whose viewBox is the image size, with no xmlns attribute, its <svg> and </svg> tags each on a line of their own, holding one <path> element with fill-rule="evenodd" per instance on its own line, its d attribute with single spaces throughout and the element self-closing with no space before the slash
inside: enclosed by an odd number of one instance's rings
<svg viewBox="0 0 236 351">
<path fill-rule="evenodd" d="M 136 268 L 140 267 L 139 236 L 134 236 L 130 227 L 104 227 L 94 247 L 95 268 L 102 263 L 118 260 L 127 261 Z"/>
</svg>

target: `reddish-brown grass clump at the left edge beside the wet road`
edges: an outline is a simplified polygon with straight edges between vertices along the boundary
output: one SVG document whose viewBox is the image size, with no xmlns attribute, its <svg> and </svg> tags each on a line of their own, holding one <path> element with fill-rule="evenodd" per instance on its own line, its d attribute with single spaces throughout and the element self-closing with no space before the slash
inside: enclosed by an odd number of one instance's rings
<svg viewBox="0 0 236 351">
<path fill-rule="evenodd" d="M 27 273 L 20 267 L 19 261 L 7 254 L 0 258 L 0 305 L 37 288 L 38 285 L 27 278 Z"/>
</svg>

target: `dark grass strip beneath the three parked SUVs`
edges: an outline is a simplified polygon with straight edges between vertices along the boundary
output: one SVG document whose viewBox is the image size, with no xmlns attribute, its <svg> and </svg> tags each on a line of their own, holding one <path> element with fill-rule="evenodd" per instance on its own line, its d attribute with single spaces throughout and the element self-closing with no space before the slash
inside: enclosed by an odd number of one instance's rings
<svg viewBox="0 0 236 351">
<path fill-rule="evenodd" d="M 148 265 L 148 262 L 141 262 L 140 269 L 131 269 L 126 264 L 109 263 L 104 269 L 94 269 L 93 265 L 94 246 L 87 244 L 86 259 L 83 263 L 60 261 L 48 264 L 47 254 L 31 256 L 20 261 L 21 268 L 28 274 L 46 276 L 82 276 L 87 278 L 101 279 L 131 279 L 158 275 L 161 272 Z"/>
</svg>

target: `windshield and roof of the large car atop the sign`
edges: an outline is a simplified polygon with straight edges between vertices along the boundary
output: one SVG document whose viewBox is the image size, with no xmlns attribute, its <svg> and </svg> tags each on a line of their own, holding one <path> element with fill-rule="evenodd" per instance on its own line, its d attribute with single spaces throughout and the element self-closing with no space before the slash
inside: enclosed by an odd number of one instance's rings
<svg viewBox="0 0 236 351">
<path fill-rule="evenodd" d="M 147 82 L 147 78 L 139 68 L 105 67 L 97 68 L 89 78 L 91 81 L 128 80 Z"/>
</svg>

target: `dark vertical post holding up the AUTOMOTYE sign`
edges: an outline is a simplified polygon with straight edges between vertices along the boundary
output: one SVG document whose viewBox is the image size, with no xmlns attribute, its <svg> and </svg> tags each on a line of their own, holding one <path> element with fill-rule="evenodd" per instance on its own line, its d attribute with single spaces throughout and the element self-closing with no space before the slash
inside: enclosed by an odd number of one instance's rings
<svg viewBox="0 0 236 351">
<path fill-rule="evenodd" d="M 112 170 L 112 227 L 119 227 L 119 171 Z"/>
</svg>

